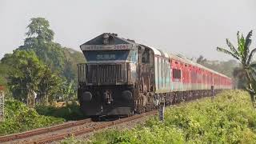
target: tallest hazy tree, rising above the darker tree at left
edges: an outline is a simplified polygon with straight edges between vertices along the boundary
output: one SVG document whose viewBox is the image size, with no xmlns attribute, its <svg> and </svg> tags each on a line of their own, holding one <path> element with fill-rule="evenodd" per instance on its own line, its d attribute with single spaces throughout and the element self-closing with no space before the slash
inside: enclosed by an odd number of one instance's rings
<svg viewBox="0 0 256 144">
<path fill-rule="evenodd" d="M 45 18 L 31 18 L 27 26 L 26 39 L 19 50 L 34 50 L 38 58 L 50 66 L 53 71 L 63 74 L 66 58 L 62 46 L 54 40 L 54 31 L 50 30 L 50 23 Z"/>
</svg>

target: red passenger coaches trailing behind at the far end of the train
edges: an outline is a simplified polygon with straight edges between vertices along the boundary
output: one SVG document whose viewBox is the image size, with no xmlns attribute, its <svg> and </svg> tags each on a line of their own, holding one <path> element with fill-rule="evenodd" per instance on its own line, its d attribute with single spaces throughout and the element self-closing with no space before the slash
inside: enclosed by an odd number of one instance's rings
<svg viewBox="0 0 256 144">
<path fill-rule="evenodd" d="M 182 56 L 170 54 L 170 63 L 172 71 L 173 91 L 209 91 L 211 86 L 216 90 L 230 89 L 230 78 L 210 70 L 205 66 L 192 62 Z M 181 73 L 181 81 L 176 78 Z M 180 85 L 177 82 L 181 82 Z M 177 86 L 178 85 L 178 86 Z"/>
</svg>

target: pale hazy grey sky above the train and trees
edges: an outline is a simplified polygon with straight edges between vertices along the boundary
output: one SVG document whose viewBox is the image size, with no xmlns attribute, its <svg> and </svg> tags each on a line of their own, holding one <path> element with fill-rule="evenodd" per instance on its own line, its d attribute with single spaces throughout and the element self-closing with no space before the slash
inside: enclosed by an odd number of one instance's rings
<svg viewBox="0 0 256 144">
<path fill-rule="evenodd" d="M 255 15 L 255 0 L 0 0 L 0 58 L 23 44 L 30 18 L 44 17 L 54 41 L 75 50 L 110 32 L 170 53 L 223 60 L 230 57 L 216 46 L 226 46 L 225 38 L 235 43 L 238 30 L 256 36 Z"/>
</svg>

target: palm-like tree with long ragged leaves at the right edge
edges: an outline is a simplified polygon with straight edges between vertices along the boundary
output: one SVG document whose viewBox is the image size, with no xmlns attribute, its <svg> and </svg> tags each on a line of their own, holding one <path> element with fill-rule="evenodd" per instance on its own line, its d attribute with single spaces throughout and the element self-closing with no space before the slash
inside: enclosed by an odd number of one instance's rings
<svg viewBox="0 0 256 144">
<path fill-rule="evenodd" d="M 229 46 L 230 50 L 226 50 L 220 47 L 217 47 L 217 50 L 225 54 L 229 54 L 232 57 L 238 59 L 239 62 L 241 62 L 242 69 L 246 74 L 246 80 L 247 80 L 246 90 L 249 91 L 251 101 L 253 102 L 253 105 L 254 105 L 255 95 L 256 95 L 256 80 L 254 78 L 254 74 L 256 73 L 256 70 L 254 69 L 254 67 L 256 66 L 256 64 L 252 63 L 252 58 L 256 52 L 256 48 L 250 51 L 252 34 L 253 34 L 253 31 L 250 30 L 246 38 L 244 38 L 243 35 L 242 34 L 240 35 L 238 31 L 238 34 L 237 34 L 238 48 L 235 48 L 234 45 L 230 42 L 230 40 L 226 39 L 226 44 L 227 46 Z"/>
</svg>

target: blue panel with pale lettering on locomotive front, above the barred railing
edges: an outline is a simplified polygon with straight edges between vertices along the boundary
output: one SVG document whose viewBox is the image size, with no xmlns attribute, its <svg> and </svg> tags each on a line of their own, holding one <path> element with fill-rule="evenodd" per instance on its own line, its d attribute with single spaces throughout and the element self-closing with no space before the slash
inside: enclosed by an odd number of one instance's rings
<svg viewBox="0 0 256 144">
<path fill-rule="evenodd" d="M 130 50 L 90 50 L 84 51 L 86 61 L 126 60 Z"/>
</svg>

